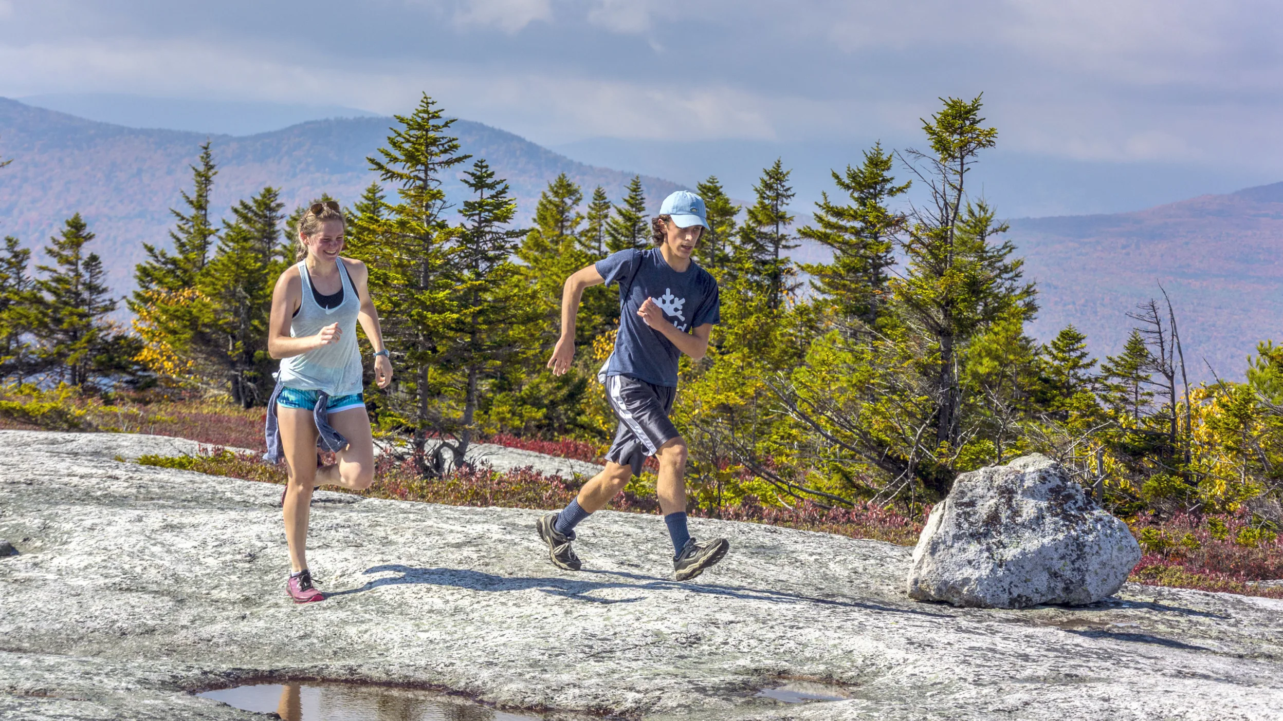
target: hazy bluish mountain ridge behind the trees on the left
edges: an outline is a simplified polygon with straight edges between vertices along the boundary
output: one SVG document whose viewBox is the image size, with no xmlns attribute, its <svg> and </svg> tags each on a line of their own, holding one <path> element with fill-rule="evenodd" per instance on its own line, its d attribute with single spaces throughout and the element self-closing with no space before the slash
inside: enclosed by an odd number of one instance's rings
<svg viewBox="0 0 1283 721">
<path fill-rule="evenodd" d="M 0 98 L 0 157 L 13 158 L 0 169 L 0 233 L 42 246 L 63 219 L 80 212 L 98 233 L 95 249 L 113 290 L 123 294 L 133 285 L 133 266 L 144 258 L 141 244 L 168 242 L 169 208 L 182 203 L 181 190 L 190 190 L 189 164 L 207 137 L 218 163 L 213 212 L 221 217 L 266 185 L 280 187 L 290 209 L 321 192 L 353 203 L 376 180 L 366 157 L 384 144 L 391 124 L 391 118 L 380 117 L 328 119 L 232 137 L 128 128 Z M 557 173 L 584 186 L 585 196 L 602 185 L 616 201 L 633 177 L 576 163 L 481 123 L 458 121 L 453 132 L 466 153 L 488 159 L 508 180 L 521 222 L 529 222 L 539 194 Z M 464 163 L 461 172 L 470 165 Z M 679 187 L 661 178 L 642 180 L 654 207 Z M 458 203 L 464 189 L 454 178 L 445 190 Z"/>
</svg>

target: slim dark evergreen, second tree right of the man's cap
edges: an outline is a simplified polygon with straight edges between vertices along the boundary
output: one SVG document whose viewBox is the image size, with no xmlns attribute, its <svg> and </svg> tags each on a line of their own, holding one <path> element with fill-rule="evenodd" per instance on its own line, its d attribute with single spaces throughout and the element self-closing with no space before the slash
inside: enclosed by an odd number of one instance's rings
<svg viewBox="0 0 1283 721">
<path fill-rule="evenodd" d="M 785 296 L 797 289 L 795 271 L 784 255 L 797 248 L 788 227 L 793 222 L 789 200 L 795 195 L 789 186 L 789 173 L 779 158 L 753 186 L 757 201 L 748 208 L 744 225 L 739 228 L 739 248 L 743 272 L 749 273 L 766 295 L 766 307 L 779 310 Z"/>
</svg>

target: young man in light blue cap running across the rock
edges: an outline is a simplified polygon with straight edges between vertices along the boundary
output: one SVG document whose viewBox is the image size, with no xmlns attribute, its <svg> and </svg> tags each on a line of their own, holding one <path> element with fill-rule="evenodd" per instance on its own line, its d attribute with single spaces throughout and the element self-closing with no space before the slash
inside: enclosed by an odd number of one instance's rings
<svg viewBox="0 0 1283 721">
<path fill-rule="evenodd" d="M 593 477 L 561 513 L 539 520 L 539 536 L 557 566 L 579 571 L 571 549 L 575 526 L 606 508 L 648 455 L 659 461 L 656 493 L 672 538 L 672 567 L 679 581 L 694 579 L 726 556 L 726 539 L 698 541 L 686 530 L 686 441 L 668 413 L 677 395 L 677 359 L 708 350 L 718 318 L 717 281 L 690 259 L 708 222 L 704 201 L 677 191 L 663 200 L 652 222 L 656 248 L 621 250 L 575 272 L 562 290 L 562 334 L 548 367 L 565 373 L 575 358 L 575 317 L 584 289 L 620 285 L 620 332 L 615 353 L 598 376 L 620 420 L 606 470 Z"/>
</svg>

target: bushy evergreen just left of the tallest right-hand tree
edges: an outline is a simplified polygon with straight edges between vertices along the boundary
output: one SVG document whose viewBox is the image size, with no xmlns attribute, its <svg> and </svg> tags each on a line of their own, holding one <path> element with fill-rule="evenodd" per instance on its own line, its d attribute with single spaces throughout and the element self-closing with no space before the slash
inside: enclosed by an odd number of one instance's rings
<svg viewBox="0 0 1283 721">
<path fill-rule="evenodd" d="M 876 144 L 865 151 L 858 168 L 833 171 L 833 181 L 847 194 L 849 203 L 839 204 L 821 194 L 816 203 L 815 226 L 806 226 L 798 235 L 833 250 L 830 263 L 803 266 L 815 276 L 812 287 L 824 294 L 844 322 L 872 327 L 887 301 L 888 268 L 896 263 L 892 233 L 903 225 L 903 216 L 892 213 L 888 201 L 908 190 L 910 183 L 896 185 L 892 177 L 893 158 Z"/>
</svg>

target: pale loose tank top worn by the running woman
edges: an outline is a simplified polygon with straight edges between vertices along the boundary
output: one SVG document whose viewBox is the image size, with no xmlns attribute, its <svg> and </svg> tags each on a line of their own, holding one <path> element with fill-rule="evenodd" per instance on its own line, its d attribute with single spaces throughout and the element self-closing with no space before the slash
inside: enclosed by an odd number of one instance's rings
<svg viewBox="0 0 1283 721">
<path fill-rule="evenodd" d="M 303 281 L 303 299 L 299 312 L 290 321 L 291 337 L 317 335 L 330 323 L 339 323 L 343 331 L 339 343 L 322 345 L 293 358 L 281 359 L 281 371 L 276 380 L 285 387 L 295 390 L 323 390 L 330 396 L 361 393 L 361 352 L 357 349 L 357 314 L 361 313 L 361 299 L 357 287 L 348 277 L 343 259 L 337 259 L 339 282 L 343 284 L 343 303 L 336 308 L 322 308 L 312 294 L 312 277 L 308 276 L 307 260 L 300 260 L 299 278 Z"/>
</svg>

